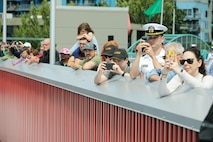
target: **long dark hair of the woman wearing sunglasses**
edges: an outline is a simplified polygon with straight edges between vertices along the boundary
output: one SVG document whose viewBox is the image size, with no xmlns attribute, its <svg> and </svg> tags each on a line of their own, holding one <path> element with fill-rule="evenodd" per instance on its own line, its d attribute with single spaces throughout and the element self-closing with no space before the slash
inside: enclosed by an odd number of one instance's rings
<svg viewBox="0 0 213 142">
<path fill-rule="evenodd" d="M 187 51 L 194 53 L 195 57 L 197 58 L 197 61 L 202 60 L 202 64 L 199 67 L 199 72 L 205 76 L 206 75 L 206 66 L 204 63 L 203 56 L 200 54 L 200 49 L 198 49 L 197 47 L 190 47 L 190 48 L 187 48 L 183 53 L 185 53 Z"/>
</svg>

